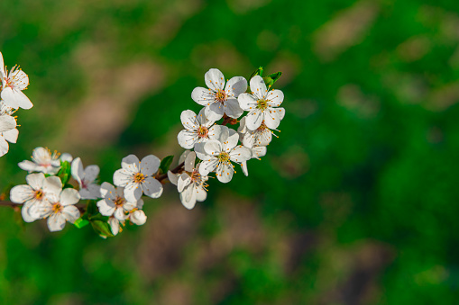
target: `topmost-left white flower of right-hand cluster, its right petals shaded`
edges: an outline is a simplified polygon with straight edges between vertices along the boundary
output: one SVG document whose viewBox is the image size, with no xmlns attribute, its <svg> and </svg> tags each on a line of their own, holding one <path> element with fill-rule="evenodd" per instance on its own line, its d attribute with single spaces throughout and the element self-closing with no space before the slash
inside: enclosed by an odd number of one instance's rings
<svg viewBox="0 0 459 305">
<path fill-rule="evenodd" d="M 243 76 L 234 76 L 225 85 L 225 76 L 216 68 L 207 71 L 204 76 L 208 89 L 197 87 L 191 93 L 191 98 L 198 104 L 206 106 L 206 116 L 209 120 L 218 121 L 224 113 L 237 119 L 243 110 L 237 102 L 237 97 L 247 90 L 247 81 Z"/>
</svg>

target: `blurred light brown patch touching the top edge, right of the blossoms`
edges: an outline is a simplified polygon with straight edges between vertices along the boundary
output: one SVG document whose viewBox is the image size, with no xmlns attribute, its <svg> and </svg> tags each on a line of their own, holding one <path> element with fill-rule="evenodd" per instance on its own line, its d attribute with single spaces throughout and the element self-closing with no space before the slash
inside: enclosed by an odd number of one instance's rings
<svg viewBox="0 0 459 305">
<path fill-rule="evenodd" d="M 314 51 L 324 61 L 332 61 L 344 50 L 360 43 L 379 11 L 374 1 L 361 0 L 336 14 L 313 36 Z"/>
</svg>

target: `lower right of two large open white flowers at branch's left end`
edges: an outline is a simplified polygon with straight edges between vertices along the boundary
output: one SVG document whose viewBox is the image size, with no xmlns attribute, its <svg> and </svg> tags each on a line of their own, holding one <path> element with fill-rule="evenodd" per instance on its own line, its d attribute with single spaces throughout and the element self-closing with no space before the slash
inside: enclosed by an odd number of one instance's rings
<svg viewBox="0 0 459 305">
<path fill-rule="evenodd" d="M 54 189 L 48 192 L 46 200 L 35 205 L 30 213 L 38 214 L 41 218 L 48 218 L 48 228 L 54 232 L 64 229 L 66 221 L 73 223 L 78 220 L 80 213 L 74 204 L 79 201 L 80 197 L 75 189 L 62 190 L 62 183 L 58 177 L 50 178 L 57 178 L 59 185 L 55 185 Z"/>
</svg>

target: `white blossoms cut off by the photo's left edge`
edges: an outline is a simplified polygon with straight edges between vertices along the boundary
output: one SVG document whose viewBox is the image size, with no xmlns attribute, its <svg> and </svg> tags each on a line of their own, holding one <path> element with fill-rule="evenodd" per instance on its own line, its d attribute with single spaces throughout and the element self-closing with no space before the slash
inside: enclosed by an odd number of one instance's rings
<svg viewBox="0 0 459 305">
<path fill-rule="evenodd" d="M 0 157 L 9 150 L 9 143 L 16 143 L 19 130 L 13 113 L 18 108 L 31 109 L 32 103 L 23 94 L 23 90 L 29 85 L 29 76 L 18 66 L 12 67 L 10 72 L 5 67 L 4 57 L 0 52 Z"/>
</svg>

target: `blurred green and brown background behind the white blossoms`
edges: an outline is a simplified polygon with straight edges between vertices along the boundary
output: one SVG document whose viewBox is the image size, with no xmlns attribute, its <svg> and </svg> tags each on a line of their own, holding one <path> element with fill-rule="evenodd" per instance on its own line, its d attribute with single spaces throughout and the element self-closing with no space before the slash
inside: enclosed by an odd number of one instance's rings
<svg viewBox="0 0 459 305">
<path fill-rule="evenodd" d="M 0 211 L 2 304 L 456 304 L 459 4 L 446 0 L 5 0 L 0 50 L 34 107 L 0 185 L 38 146 L 112 182 L 179 148 L 204 74 L 282 71 L 285 119 L 250 176 L 104 240 Z M 177 160 L 177 158 L 176 158 Z"/>
</svg>

